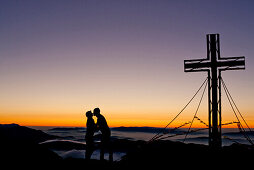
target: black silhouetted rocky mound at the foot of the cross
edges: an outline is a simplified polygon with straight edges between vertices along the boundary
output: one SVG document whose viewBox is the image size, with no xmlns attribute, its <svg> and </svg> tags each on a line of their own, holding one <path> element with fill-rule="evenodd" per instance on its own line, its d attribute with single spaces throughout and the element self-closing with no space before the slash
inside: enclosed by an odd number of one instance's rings
<svg viewBox="0 0 254 170">
<path fill-rule="evenodd" d="M 124 156 L 119 162 L 120 167 L 129 169 L 174 167 L 173 165 L 182 168 L 189 165 L 212 167 L 217 166 L 217 163 L 220 163 L 220 166 L 230 165 L 234 161 L 250 165 L 254 155 L 252 146 L 237 144 L 214 150 L 207 145 L 154 141 L 136 148 Z"/>
</svg>

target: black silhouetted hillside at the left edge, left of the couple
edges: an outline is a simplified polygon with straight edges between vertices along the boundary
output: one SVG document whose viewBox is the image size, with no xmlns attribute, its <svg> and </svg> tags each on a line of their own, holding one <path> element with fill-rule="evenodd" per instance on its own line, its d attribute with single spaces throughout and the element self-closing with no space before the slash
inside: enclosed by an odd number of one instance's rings
<svg viewBox="0 0 254 170">
<path fill-rule="evenodd" d="M 61 159 L 56 153 L 38 144 L 56 138 L 40 130 L 17 124 L 0 125 L 0 137 L 0 159 L 3 162 L 28 160 L 44 162 Z"/>
</svg>

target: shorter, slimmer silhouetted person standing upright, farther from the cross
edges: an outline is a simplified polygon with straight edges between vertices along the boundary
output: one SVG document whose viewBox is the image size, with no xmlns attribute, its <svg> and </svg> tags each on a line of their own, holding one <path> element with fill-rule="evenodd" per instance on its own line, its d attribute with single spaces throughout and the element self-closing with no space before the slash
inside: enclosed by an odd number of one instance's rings
<svg viewBox="0 0 254 170">
<path fill-rule="evenodd" d="M 87 122 L 86 122 L 86 159 L 89 160 L 94 151 L 94 141 L 93 135 L 95 132 L 95 123 L 93 120 L 93 113 L 91 111 L 86 112 Z"/>
</svg>

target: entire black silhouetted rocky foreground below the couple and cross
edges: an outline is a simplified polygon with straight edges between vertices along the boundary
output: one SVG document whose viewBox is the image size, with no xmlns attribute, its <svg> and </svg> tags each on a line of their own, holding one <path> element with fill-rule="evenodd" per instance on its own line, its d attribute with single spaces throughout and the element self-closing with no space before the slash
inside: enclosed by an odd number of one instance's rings
<svg viewBox="0 0 254 170">
<path fill-rule="evenodd" d="M 167 168 L 173 167 L 198 169 L 218 167 L 252 166 L 254 147 L 250 145 L 233 144 L 214 150 L 206 145 L 184 144 L 172 141 L 131 141 L 126 139 L 114 140 L 113 151 L 126 151 L 127 155 L 120 161 L 84 159 L 62 159 L 52 149 L 76 148 L 84 149 L 84 144 L 73 143 L 42 143 L 56 139 L 42 131 L 19 126 L 16 124 L 0 125 L 0 160 L 8 166 L 44 167 L 49 169 L 135 169 L 135 168 Z M 42 143 L 42 144 L 40 144 Z"/>
</svg>

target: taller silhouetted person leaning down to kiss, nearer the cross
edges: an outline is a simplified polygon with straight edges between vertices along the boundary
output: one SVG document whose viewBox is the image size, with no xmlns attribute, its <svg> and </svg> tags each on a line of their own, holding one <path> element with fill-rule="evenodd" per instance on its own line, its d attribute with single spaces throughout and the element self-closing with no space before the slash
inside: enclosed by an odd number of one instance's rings
<svg viewBox="0 0 254 170">
<path fill-rule="evenodd" d="M 94 115 L 97 117 L 96 128 L 101 131 L 101 145 L 100 145 L 100 160 L 104 160 L 104 152 L 107 148 L 109 150 L 109 161 L 113 161 L 113 153 L 110 146 L 110 129 L 108 127 L 107 121 L 103 115 L 100 113 L 99 108 L 94 109 Z"/>
</svg>

